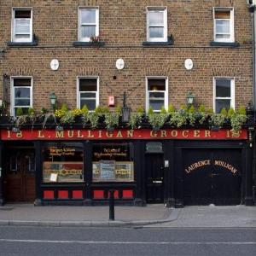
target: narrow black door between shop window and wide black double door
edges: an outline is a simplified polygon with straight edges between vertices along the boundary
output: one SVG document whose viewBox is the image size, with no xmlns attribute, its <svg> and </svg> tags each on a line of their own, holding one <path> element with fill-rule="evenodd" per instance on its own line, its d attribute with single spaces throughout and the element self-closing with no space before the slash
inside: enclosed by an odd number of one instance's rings
<svg viewBox="0 0 256 256">
<path fill-rule="evenodd" d="M 147 202 L 164 202 L 164 159 L 163 154 L 146 155 Z"/>
</svg>

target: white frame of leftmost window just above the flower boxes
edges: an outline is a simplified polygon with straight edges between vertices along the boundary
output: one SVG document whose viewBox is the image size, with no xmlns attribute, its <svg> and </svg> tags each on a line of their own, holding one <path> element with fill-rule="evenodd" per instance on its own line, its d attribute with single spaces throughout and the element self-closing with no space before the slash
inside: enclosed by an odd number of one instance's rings
<svg viewBox="0 0 256 256">
<path fill-rule="evenodd" d="M 32 99 L 32 89 L 33 89 L 33 79 L 32 79 L 32 76 L 13 76 L 10 78 L 11 79 L 11 91 L 10 91 L 10 99 L 11 99 L 11 103 L 10 103 L 10 114 L 11 116 L 15 116 L 15 83 L 14 83 L 14 80 L 15 79 L 31 79 L 31 86 L 20 86 L 22 88 L 29 88 L 30 89 L 30 104 L 29 106 L 27 106 L 28 108 L 32 108 L 32 102 L 33 102 L 33 99 Z M 16 108 L 26 108 L 26 107 L 16 107 Z"/>
</svg>

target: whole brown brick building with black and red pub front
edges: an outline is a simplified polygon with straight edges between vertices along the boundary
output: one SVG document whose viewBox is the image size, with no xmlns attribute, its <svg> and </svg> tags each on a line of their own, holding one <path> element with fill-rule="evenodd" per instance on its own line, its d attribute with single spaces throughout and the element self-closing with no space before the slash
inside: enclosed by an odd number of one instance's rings
<svg viewBox="0 0 256 256">
<path fill-rule="evenodd" d="M 246 1 L 7 0 L 0 35 L 2 201 L 94 204 L 116 189 L 120 203 L 253 204 L 247 125 L 238 136 L 230 125 L 189 124 L 160 131 L 119 124 L 109 133 L 81 124 L 55 131 L 43 119 L 16 127 L 19 118 L 6 117 L 50 111 L 53 92 L 55 108 L 100 105 L 112 113 L 124 92 L 133 112 L 179 109 L 189 92 L 195 108 L 215 113 L 247 106 L 253 53 Z"/>
</svg>

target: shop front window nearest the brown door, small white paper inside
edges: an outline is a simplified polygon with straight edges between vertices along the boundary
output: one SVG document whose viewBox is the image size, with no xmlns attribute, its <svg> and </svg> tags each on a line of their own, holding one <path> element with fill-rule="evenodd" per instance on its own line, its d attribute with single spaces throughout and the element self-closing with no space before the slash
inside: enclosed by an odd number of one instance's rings
<svg viewBox="0 0 256 256">
<path fill-rule="evenodd" d="M 44 183 L 84 181 L 81 143 L 48 143 L 43 148 L 43 158 Z"/>
</svg>

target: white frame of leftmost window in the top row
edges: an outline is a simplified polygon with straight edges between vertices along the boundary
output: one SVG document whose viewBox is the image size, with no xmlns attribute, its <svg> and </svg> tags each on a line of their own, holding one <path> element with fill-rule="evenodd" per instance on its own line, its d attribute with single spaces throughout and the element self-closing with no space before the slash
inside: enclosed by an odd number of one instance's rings
<svg viewBox="0 0 256 256">
<path fill-rule="evenodd" d="M 30 20 L 30 36 L 29 38 L 16 38 L 16 32 L 15 32 L 15 11 L 16 10 L 24 10 L 27 11 L 29 10 L 31 12 L 31 18 L 30 19 L 26 19 L 26 20 Z M 11 42 L 15 42 L 15 43 L 30 43 L 32 42 L 32 8 L 31 7 L 26 7 L 26 8 L 18 8 L 18 7 L 14 7 L 12 9 L 12 26 L 11 26 Z"/>
</svg>

